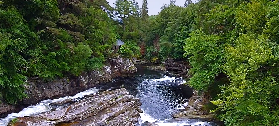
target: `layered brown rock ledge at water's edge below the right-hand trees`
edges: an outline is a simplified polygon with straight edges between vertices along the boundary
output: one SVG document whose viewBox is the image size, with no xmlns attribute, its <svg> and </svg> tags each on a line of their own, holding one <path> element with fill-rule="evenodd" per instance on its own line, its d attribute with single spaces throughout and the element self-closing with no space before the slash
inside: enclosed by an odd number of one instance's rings
<svg viewBox="0 0 279 126">
<path fill-rule="evenodd" d="M 197 91 L 193 91 L 193 96 L 189 98 L 187 106 L 184 106 L 185 110 L 177 114 L 173 114 L 172 117 L 177 119 L 202 119 L 206 121 L 214 120 L 215 114 L 206 112 L 203 110 L 203 106 L 209 103 L 209 97 L 205 94 L 198 95 Z"/>
</svg>

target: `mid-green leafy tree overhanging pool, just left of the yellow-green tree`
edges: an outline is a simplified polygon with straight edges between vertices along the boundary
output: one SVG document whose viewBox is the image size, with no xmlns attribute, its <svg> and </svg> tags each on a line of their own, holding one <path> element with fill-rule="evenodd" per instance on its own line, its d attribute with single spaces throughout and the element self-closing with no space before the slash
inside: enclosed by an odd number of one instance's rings
<svg viewBox="0 0 279 126">
<path fill-rule="evenodd" d="M 221 72 L 220 67 L 224 62 L 222 38 L 206 35 L 201 31 L 190 35 L 184 47 L 184 56 L 190 56 L 191 71 L 194 71 L 190 86 L 206 91 L 213 84 L 215 76 Z"/>
</svg>

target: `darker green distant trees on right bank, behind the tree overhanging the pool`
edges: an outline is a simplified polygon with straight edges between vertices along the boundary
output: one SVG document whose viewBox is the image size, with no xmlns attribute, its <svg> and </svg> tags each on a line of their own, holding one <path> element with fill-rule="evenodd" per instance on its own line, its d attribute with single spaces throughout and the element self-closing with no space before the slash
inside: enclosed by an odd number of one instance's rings
<svg viewBox="0 0 279 126">
<path fill-rule="evenodd" d="M 194 8 L 196 8 L 194 4 L 183 8 L 170 3 L 158 15 L 150 17 L 146 21 L 144 41 L 148 47 L 158 47 L 156 48 L 158 53 L 153 57 L 159 57 L 160 59 L 168 57 L 183 58 L 184 39 L 190 37 L 189 34 L 193 29 Z M 158 37 L 156 38 L 156 36 Z M 148 50 L 148 47 L 146 47 L 146 50 Z M 147 51 L 146 53 L 150 52 Z"/>
</svg>

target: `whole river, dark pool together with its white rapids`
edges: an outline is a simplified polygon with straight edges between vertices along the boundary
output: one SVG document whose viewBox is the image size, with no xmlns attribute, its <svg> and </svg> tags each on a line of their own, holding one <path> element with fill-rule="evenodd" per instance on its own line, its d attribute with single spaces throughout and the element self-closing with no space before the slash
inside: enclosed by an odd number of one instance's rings
<svg viewBox="0 0 279 126">
<path fill-rule="evenodd" d="M 192 90 L 183 86 L 185 81 L 182 78 L 172 77 L 167 73 L 138 67 L 135 77 L 129 79 L 116 79 L 112 82 L 99 85 L 95 88 L 85 90 L 74 96 L 67 96 L 54 100 L 41 101 L 37 105 L 29 106 L 19 113 L 9 114 L 8 117 L 0 119 L 0 125 L 6 126 L 7 123 L 15 117 L 30 116 L 45 111 L 50 111 L 52 106 L 49 104 L 66 99 L 82 99 L 84 96 L 94 94 L 103 90 L 114 90 L 124 87 L 129 93 L 142 102 L 141 118 L 137 125 L 144 126 L 145 121 L 155 122 L 159 126 L 213 126 L 211 123 L 202 122 L 194 119 L 184 121 L 169 121 L 171 114 L 184 109 L 183 105 L 188 103 Z M 58 106 L 63 107 L 63 106 Z"/>
</svg>

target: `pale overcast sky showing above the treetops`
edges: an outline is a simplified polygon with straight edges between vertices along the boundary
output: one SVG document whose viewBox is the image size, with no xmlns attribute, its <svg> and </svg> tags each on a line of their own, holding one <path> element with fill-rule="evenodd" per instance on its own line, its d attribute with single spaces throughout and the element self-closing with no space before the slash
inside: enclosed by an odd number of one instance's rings
<svg viewBox="0 0 279 126">
<path fill-rule="evenodd" d="M 107 0 L 109 2 L 109 5 L 114 7 L 115 0 Z M 139 3 L 139 6 L 142 6 L 142 0 L 135 0 Z M 197 0 L 192 0 L 193 2 Z M 170 0 L 147 0 L 147 6 L 149 8 L 148 15 L 156 15 L 161 10 L 161 6 L 163 4 L 170 3 Z M 175 4 L 178 6 L 184 6 L 185 0 L 176 0 Z"/>
</svg>

